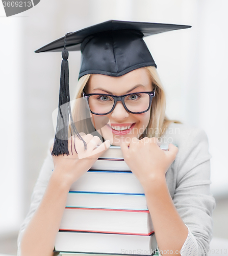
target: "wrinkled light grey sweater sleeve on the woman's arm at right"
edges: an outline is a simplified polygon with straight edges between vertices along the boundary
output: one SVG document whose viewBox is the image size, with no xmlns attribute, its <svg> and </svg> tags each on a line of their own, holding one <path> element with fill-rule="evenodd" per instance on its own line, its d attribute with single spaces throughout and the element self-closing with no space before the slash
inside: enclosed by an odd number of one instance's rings
<svg viewBox="0 0 228 256">
<path fill-rule="evenodd" d="M 189 228 L 181 255 L 205 256 L 212 239 L 212 211 L 215 207 L 215 200 L 210 194 L 211 156 L 205 132 L 193 129 L 182 140 L 179 153 L 178 161 L 174 163 L 178 173 L 173 203 Z"/>
</svg>

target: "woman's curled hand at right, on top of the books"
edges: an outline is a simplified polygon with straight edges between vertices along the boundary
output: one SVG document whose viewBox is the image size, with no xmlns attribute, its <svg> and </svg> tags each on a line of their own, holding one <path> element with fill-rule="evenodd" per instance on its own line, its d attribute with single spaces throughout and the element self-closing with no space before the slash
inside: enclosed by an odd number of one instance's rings
<svg viewBox="0 0 228 256">
<path fill-rule="evenodd" d="M 169 144 L 168 151 L 162 150 L 157 138 L 133 138 L 129 143 L 122 143 L 124 161 L 140 181 L 142 186 L 151 179 L 165 177 L 165 174 L 178 154 L 178 147 Z M 151 183 L 150 183 L 151 184 Z"/>
</svg>

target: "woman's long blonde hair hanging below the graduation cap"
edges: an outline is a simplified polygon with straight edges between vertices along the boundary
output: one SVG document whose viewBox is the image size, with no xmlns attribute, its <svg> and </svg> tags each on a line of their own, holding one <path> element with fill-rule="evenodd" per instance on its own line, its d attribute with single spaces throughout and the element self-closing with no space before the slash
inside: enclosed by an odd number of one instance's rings
<svg viewBox="0 0 228 256">
<path fill-rule="evenodd" d="M 169 120 L 165 115 L 165 107 L 166 107 L 166 99 L 165 99 L 165 92 L 162 86 L 162 83 L 160 81 L 160 78 L 158 76 L 157 70 L 155 67 L 144 67 L 144 69 L 147 71 L 152 86 L 155 88 L 155 97 L 152 100 L 151 109 L 150 109 L 150 120 L 148 123 L 148 126 L 146 127 L 146 130 L 144 133 L 140 136 L 140 139 L 143 137 L 161 137 L 161 135 L 166 131 L 168 125 L 172 122 L 180 123 L 176 120 Z M 77 89 L 75 92 L 74 99 L 81 98 L 83 89 L 85 88 L 87 82 L 90 79 L 91 74 L 84 75 L 79 79 Z M 74 122 L 77 122 L 79 120 L 85 120 L 89 119 L 90 115 L 89 112 L 85 111 L 86 106 L 80 104 L 79 101 L 75 101 L 75 104 L 73 106 L 72 116 Z M 80 122 L 77 125 L 77 129 L 79 132 L 85 132 L 89 133 L 89 127 L 87 125 L 87 122 Z"/>
</svg>

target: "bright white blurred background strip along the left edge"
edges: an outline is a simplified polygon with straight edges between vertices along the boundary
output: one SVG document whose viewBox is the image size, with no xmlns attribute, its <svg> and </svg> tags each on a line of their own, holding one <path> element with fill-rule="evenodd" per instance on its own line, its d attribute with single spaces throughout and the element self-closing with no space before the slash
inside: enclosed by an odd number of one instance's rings
<svg viewBox="0 0 228 256">
<path fill-rule="evenodd" d="M 6 18 L 0 4 L 0 236 L 22 220 L 21 21 Z"/>
</svg>

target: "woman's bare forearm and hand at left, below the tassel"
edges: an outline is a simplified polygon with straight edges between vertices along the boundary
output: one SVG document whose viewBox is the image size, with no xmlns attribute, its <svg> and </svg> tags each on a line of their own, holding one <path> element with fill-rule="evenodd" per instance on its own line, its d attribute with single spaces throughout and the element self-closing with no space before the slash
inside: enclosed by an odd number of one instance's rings
<svg viewBox="0 0 228 256">
<path fill-rule="evenodd" d="M 83 141 L 77 136 L 75 140 L 74 137 L 72 140 L 69 139 L 70 155 L 53 156 L 55 167 L 43 196 L 43 182 L 39 181 L 39 190 L 34 190 L 36 194 L 32 207 L 36 206 L 36 211 L 22 235 L 21 256 L 54 255 L 56 234 L 59 231 L 71 184 L 86 173 L 110 146 L 109 141 L 102 143 L 97 136 L 83 133 L 80 135 L 87 143 L 87 151 L 84 150 Z M 74 145 L 78 154 L 74 150 Z M 99 146 L 96 148 L 97 145 Z M 52 151 L 52 147 L 50 150 Z M 49 168 L 48 166 L 45 165 L 45 168 Z"/>
</svg>

